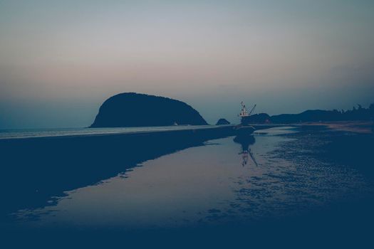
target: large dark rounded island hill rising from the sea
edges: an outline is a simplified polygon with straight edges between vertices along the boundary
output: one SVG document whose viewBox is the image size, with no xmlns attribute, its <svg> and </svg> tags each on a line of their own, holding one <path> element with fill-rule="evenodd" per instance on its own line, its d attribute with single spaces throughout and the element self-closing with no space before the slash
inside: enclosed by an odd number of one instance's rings
<svg viewBox="0 0 374 249">
<path fill-rule="evenodd" d="M 90 127 L 206 125 L 197 110 L 168 97 L 125 92 L 105 100 Z"/>
</svg>

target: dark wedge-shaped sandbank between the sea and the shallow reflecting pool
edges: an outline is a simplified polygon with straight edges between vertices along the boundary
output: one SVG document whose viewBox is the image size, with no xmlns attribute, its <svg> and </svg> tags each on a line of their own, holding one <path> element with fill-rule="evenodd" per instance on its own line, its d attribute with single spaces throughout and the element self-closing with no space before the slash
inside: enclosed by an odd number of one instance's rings
<svg viewBox="0 0 374 249">
<path fill-rule="evenodd" d="M 232 127 L 175 132 L 0 139 L 0 220 L 22 208 L 46 205 L 51 196 L 96 184 L 136 166 L 207 139 L 232 135 Z"/>
</svg>

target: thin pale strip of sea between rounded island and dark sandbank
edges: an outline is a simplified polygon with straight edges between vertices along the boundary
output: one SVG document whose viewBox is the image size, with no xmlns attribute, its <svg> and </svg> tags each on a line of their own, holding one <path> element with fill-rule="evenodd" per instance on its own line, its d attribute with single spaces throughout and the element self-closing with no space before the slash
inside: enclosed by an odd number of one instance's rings
<svg viewBox="0 0 374 249">
<path fill-rule="evenodd" d="M 63 129 L 0 129 L 0 139 L 32 137 L 70 137 L 100 134 L 128 134 L 140 132 L 165 132 L 186 129 L 209 129 L 216 125 L 177 125 L 165 127 L 115 127 L 115 128 L 63 128 Z"/>
</svg>

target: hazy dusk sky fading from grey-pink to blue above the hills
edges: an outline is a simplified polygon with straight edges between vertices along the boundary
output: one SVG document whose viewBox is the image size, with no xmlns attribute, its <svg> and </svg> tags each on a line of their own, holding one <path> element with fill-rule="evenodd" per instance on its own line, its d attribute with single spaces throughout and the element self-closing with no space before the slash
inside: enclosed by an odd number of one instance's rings
<svg viewBox="0 0 374 249">
<path fill-rule="evenodd" d="M 0 129 L 87 127 L 120 92 L 212 124 L 368 107 L 373 27 L 372 0 L 0 0 Z"/>
</svg>

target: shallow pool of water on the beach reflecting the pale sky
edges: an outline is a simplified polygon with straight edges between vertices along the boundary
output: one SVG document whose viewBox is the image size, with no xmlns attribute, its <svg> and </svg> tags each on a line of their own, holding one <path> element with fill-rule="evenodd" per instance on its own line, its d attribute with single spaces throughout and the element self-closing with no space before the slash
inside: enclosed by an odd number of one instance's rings
<svg viewBox="0 0 374 249">
<path fill-rule="evenodd" d="M 242 164 L 234 137 L 145 161 L 95 186 L 68 191 L 56 206 L 19 211 L 30 226 L 158 228 L 288 216 L 364 191 L 360 174 L 274 153 L 291 128 L 256 132 Z M 105 165 L 103 165 L 105 166 Z M 30 217 L 37 217 L 32 221 Z"/>
</svg>

